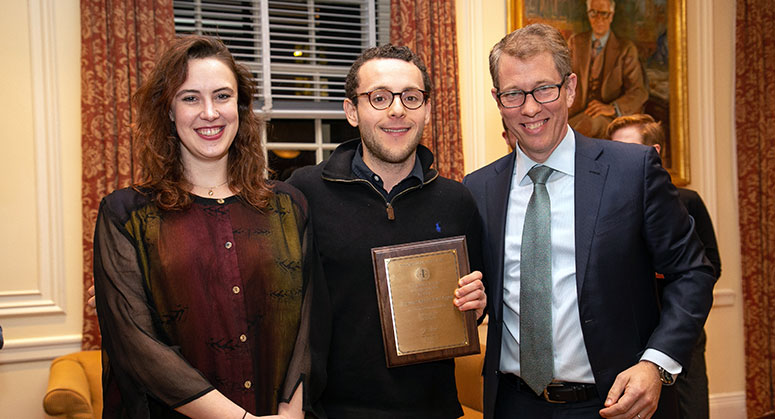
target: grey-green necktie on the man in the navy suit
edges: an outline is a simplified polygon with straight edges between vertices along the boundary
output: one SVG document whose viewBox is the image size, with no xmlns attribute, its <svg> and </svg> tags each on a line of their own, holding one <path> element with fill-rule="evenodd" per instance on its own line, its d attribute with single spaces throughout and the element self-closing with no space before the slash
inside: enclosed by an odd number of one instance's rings
<svg viewBox="0 0 775 419">
<path fill-rule="evenodd" d="M 541 394 L 552 381 L 552 225 L 546 166 L 527 173 L 533 194 L 525 212 L 519 270 L 519 365 L 522 379 Z"/>
</svg>

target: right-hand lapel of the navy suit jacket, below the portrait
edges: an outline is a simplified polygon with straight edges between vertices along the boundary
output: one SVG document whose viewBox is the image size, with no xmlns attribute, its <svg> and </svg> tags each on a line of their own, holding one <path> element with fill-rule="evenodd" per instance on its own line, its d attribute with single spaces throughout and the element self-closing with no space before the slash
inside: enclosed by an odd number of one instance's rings
<svg viewBox="0 0 775 419">
<path fill-rule="evenodd" d="M 596 140 L 576 134 L 575 224 L 576 224 L 576 286 L 581 295 L 592 237 L 595 232 L 600 199 L 603 196 L 608 164 L 599 161 L 603 154 Z"/>
</svg>

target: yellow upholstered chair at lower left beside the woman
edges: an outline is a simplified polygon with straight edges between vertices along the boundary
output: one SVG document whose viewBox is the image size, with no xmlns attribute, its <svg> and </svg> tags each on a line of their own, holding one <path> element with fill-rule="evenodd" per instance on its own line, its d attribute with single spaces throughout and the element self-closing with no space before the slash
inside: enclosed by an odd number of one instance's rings
<svg viewBox="0 0 775 419">
<path fill-rule="evenodd" d="M 58 418 L 102 417 L 100 351 L 75 352 L 51 363 L 43 409 Z"/>
</svg>

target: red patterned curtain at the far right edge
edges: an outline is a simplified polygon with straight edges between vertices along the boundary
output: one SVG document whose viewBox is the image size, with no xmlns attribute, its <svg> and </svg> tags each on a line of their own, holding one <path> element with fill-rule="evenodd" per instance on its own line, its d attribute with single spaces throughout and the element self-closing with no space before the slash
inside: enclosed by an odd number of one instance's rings
<svg viewBox="0 0 775 419">
<path fill-rule="evenodd" d="M 746 405 L 775 410 L 775 8 L 738 0 L 735 130 L 743 268 Z"/>
</svg>

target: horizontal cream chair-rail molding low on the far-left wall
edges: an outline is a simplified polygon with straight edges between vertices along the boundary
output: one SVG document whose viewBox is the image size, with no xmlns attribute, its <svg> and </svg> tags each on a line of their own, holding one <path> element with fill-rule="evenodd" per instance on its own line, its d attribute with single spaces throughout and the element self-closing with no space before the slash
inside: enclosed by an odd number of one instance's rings
<svg viewBox="0 0 775 419">
<path fill-rule="evenodd" d="M 81 335 L 9 339 L 0 350 L 0 365 L 19 362 L 50 361 L 81 350 Z"/>
</svg>

